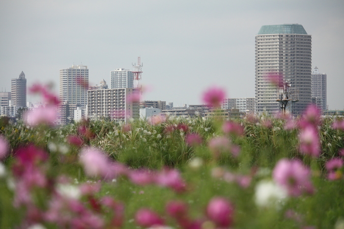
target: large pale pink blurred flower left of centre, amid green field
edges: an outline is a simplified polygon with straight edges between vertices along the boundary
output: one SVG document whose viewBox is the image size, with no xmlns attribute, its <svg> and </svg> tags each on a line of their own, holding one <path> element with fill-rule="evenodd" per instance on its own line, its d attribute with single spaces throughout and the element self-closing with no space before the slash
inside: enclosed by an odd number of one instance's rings
<svg viewBox="0 0 344 229">
<path fill-rule="evenodd" d="M 110 172 L 111 164 L 108 157 L 96 148 L 82 149 L 79 160 L 87 176 L 104 178 Z"/>
</svg>

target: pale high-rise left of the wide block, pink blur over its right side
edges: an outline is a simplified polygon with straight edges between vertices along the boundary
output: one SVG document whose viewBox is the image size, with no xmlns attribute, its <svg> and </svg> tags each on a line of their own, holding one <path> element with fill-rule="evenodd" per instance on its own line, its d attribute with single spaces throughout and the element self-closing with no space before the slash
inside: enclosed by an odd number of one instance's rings
<svg viewBox="0 0 344 229">
<path fill-rule="evenodd" d="M 60 100 L 86 107 L 88 69 L 83 65 L 72 65 L 60 69 Z"/>
</svg>

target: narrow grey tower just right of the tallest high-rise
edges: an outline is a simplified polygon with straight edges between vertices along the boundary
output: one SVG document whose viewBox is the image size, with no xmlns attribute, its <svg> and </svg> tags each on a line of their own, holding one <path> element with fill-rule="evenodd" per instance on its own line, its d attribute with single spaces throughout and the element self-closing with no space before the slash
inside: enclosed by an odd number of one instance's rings
<svg viewBox="0 0 344 229">
<path fill-rule="evenodd" d="M 312 74 L 312 98 L 321 99 L 321 110 L 327 110 L 326 77 L 326 73 L 319 73 L 315 67 Z"/>
</svg>

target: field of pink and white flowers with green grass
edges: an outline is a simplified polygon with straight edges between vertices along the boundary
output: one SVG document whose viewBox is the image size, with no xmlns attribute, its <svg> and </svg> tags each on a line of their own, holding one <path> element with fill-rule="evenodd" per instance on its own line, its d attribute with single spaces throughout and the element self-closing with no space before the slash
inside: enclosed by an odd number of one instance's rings
<svg viewBox="0 0 344 229">
<path fill-rule="evenodd" d="M 344 228 L 344 120 L 314 106 L 63 127 L 46 116 L 0 119 L 1 229 Z"/>
</svg>

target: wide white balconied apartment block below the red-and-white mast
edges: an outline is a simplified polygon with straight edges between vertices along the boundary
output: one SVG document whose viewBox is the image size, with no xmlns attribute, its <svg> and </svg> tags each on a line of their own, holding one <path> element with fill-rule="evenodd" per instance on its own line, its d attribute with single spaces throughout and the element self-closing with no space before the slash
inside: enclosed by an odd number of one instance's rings
<svg viewBox="0 0 344 229">
<path fill-rule="evenodd" d="M 88 119 L 110 118 L 127 122 L 129 118 L 140 118 L 140 101 L 136 101 L 137 88 L 114 88 L 87 91 L 86 114 Z"/>
</svg>

